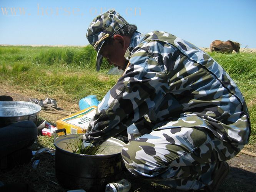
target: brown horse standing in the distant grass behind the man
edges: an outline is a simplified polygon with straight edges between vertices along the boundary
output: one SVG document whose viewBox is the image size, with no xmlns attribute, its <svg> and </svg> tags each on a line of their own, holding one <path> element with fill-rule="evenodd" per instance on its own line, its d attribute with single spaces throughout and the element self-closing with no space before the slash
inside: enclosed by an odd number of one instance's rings
<svg viewBox="0 0 256 192">
<path fill-rule="evenodd" d="M 219 51 L 222 53 L 232 53 L 232 51 L 236 51 L 236 53 L 239 53 L 240 49 L 240 43 L 234 42 L 234 41 L 220 41 L 215 40 L 210 45 L 210 51 Z"/>
</svg>

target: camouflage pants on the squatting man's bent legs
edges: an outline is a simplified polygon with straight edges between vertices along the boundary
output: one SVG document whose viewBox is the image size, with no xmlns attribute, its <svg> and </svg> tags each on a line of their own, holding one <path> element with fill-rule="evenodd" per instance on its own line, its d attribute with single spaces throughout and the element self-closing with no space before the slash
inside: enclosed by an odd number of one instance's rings
<svg viewBox="0 0 256 192">
<path fill-rule="evenodd" d="M 135 126 L 127 132 L 128 136 L 134 134 Z M 132 138 L 122 151 L 126 168 L 134 175 L 181 190 L 210 185 L 216 162 L 231 159 L 243 148 L 217 139 L 205 127 L 158 129 Z"/>
</svg>

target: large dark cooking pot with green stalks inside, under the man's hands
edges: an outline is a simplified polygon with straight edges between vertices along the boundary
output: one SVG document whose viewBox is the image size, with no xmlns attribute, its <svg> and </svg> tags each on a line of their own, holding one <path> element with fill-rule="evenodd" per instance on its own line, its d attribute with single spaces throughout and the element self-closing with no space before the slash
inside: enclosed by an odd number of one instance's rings
<svg viewBox="0 0 256 192">
<path fill-rule="evenodd" d="M 106 184 L 118 180 L 122 174 L 121 151 L 125 143 L 111 137 L 101 144 L 105 149 L 100 155 L 76 154 L 69 146 L 76 144 L 80 135 L 69 134 L 54 140 L 58 182 L 66 189 L 103 191 Z"/>
</svg>

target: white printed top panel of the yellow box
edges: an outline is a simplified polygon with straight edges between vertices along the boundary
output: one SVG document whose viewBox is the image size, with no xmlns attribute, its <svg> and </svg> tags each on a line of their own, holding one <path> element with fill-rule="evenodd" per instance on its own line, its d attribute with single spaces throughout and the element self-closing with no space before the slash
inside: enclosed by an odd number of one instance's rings
<svg viewBox="0 0 256 192">
<path fill-rule="evenodd" d="M 62 121 L 81 127 L 82 129 L 87 129 L 91 121 L 91 118 L 93 118 L 95 113 L 96 113 L 96 110 L 94 108 L 91 108 L 84 111 L 83 113 L 76 114 L 73 117 L 62 119 Z"/>
</svg>

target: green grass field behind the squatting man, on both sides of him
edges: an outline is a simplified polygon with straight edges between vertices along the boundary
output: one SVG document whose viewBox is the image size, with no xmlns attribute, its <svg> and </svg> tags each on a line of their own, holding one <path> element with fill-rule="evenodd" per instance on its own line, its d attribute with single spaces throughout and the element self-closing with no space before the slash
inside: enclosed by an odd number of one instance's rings
<svg viewBox="0 0 256 192">
<path fill-rule="evenodd" d="M 250 144 L 256 144 L 256 53 L 209 55 L 223 66 L 243 93 L 252 124 Z M 101 100 L 119 76 L 106 74 L 111 68 L 106 61 L 96 72 L 95 58 L 91 46 L 0 46 L 0 81 L 68 101 L 87 95 Z"/>
</svg>

